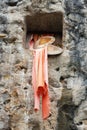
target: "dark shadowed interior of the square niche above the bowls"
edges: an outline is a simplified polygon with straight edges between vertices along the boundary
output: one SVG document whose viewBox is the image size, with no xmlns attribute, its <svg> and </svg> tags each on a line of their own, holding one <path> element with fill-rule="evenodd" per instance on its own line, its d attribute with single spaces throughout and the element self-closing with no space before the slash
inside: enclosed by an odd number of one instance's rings
<svg viewBox="0 0 87 130">
<path fill-rule="evenodd" d="M 53 34 L 55 45 L 62 47 L 63 39 L 63 13 L 39 13 L 25 16 L 26 46 L 31 34 Z"/>
</svg>

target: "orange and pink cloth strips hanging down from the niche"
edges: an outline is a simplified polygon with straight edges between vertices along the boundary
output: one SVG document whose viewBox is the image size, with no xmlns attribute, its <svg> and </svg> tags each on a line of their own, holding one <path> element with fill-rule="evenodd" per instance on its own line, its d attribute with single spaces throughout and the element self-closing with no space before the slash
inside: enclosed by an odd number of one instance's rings
<svg viewBox="0 0 87 130">
<path fill-rule="evenodd" d="M 32 85 L 34 89 L 35 111 L 39 110 L 40 95 L 42 96 L 42 117 L 46 119 L 50 114 L 48 94 L 48 64 L 47 47 L 33 52 Z"/>
</svg>

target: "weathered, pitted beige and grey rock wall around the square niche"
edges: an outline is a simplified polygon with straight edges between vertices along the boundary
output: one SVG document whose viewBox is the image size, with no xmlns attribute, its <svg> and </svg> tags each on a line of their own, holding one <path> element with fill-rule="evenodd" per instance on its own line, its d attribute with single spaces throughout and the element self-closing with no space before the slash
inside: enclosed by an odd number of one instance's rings
<svg viewBox="0 0 87 130">
<path fill-rule="evenodd" d="M 87 129 L 86 8 L 86 0 L 0 1 L 0 130 Z M 54 12 L 64 17 L 64 51 L 48 57 L 51 116 L 43 121 L 33 110 L 25 17 Z"/>
</svg>

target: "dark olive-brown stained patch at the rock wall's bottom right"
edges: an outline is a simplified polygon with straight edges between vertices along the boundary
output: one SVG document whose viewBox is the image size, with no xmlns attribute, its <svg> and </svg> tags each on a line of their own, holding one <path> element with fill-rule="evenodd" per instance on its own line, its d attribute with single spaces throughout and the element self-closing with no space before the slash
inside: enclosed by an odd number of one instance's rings
<svg viewBox="0 0 87 130">
<path fill-rule="evenodd" d="M 64 88 L 62 91 L 62 97 L 58 101 L 58 118 L 56 130 L 78 130 L 74 124 L 74 112 L 76 106 L 72 102 L 71 90 Z"/>
</svg>

